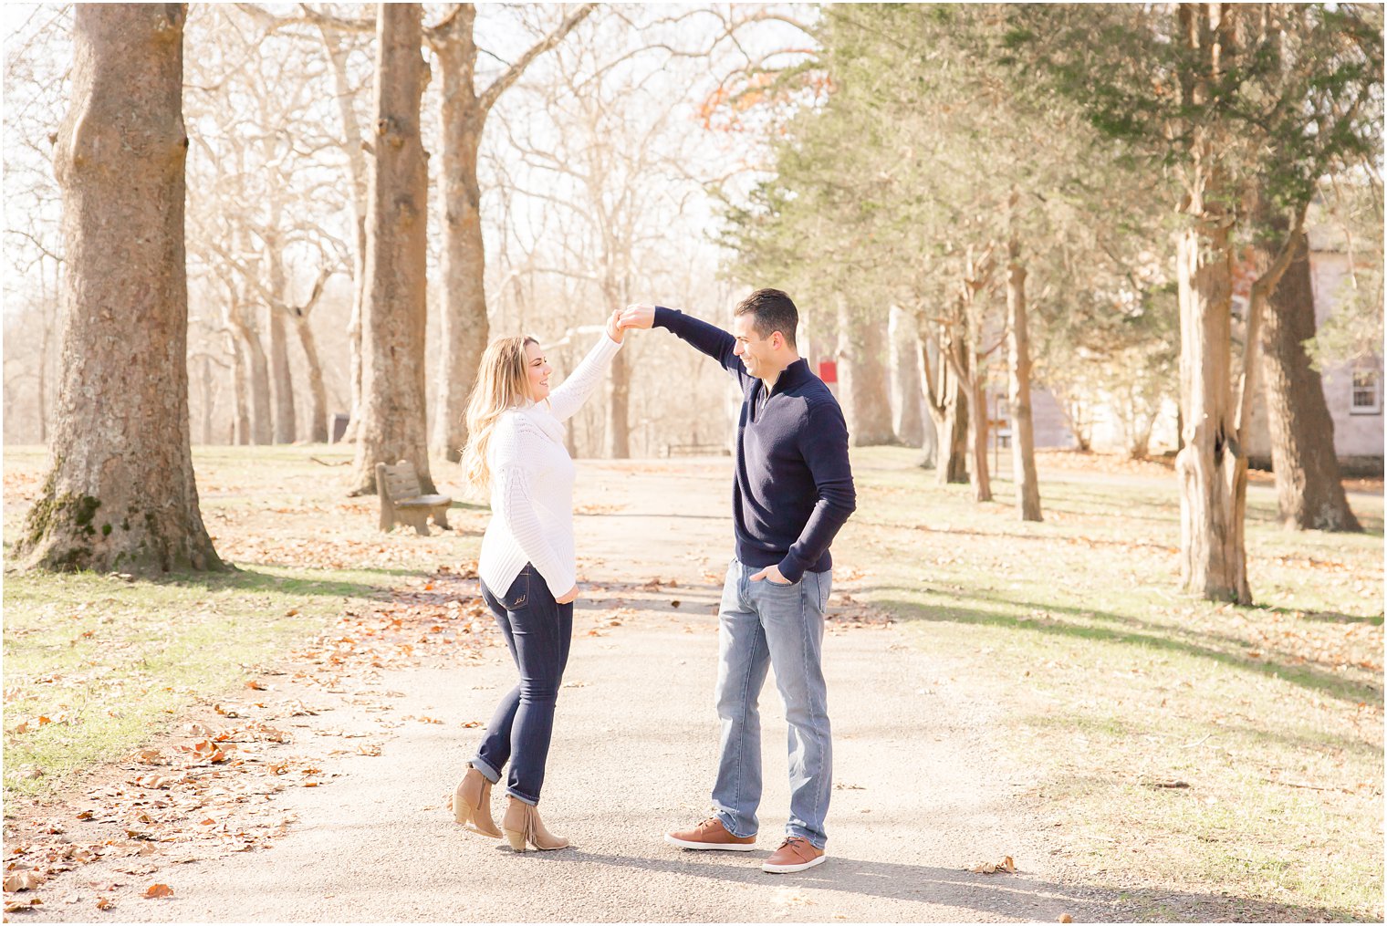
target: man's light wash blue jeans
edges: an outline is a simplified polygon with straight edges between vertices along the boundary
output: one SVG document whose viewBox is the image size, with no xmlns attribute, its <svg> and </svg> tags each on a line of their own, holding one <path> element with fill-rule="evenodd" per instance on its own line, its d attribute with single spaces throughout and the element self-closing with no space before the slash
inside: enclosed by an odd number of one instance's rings
<svg viewBox="0 0 1387 926">
<path fill-rule="evenodd" d="M 793 585 L 752 582 L 760 568 L 732 560 L 723 582 L 718 627 L 717 715 L 723 740 L 713 808 L 734 836 L 755 836 L 761 803 L 761 717 L 766 671 L 789 724 L 789 821 L 786 836 L 824 848 L 824 816 L 834 778 L 834 743 L 824 685 L 824 607 L 832 571 L 804 573 Z"/>
</svg>

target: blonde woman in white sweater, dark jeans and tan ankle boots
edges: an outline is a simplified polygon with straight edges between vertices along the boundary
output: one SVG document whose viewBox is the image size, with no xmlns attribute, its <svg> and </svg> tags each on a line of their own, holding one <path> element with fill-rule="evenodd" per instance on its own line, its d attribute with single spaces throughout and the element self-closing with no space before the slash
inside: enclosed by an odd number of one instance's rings
<svg viewBox="0 0 1387 926">
<path fill-rule="evenodd" d="M 491 493 L 491 523 L 481 541 L 481 596 L 497 615 L 520 683 L 501 703 L 452 797 L 454 819 L 499 839 L 491 786 L 510 762 L 509 803 L 501 828 L 510 847 L 565 848 L 544 828 L 537 804 L 553 731 L 553 706 L 573 636 L 573 460 L 563 421 L 602 381 L 624 331 L 620 312 L 563 385 L 549 391 L 551 366 L 534 338 L 487 347 L 467 402 L 463 471 L 474 491 Z"/>
</svg>

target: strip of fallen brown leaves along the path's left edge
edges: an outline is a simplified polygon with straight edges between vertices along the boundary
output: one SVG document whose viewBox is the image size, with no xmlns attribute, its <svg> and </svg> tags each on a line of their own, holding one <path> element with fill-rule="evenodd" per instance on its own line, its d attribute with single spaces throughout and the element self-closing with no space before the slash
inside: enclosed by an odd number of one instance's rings
<svg viewBox="0 0 1387 926">
<path fill-rule="evenodd" d="M 483 649 L 498 645 L 490 611 L 474 593 L 476 575 L 474 563 L 440 566 L 379 603 L 347 609 L 286 664 L 255 672 L 244 693 L 259 700 L 216 701 L 126 761 L 96 771 L 85 787 L 7 808 L 6 912 L 43 905 L 40 886 L 97 861 L 110 862 L 118 875 L 146 879 L 161 865 L 269 848 L 297 822 L 276 807 L 279 794 L 327 785 L 337 776 L 329 768 L 334 757 L 381 754 L 369 733 L 298 719 L 334 710 L 327 694 L 358 693 L 348 699 L 350 710 L 358 719 L 372 717 L 381 737 L 405 721 L 444 722 L 422 715 L 390 719 L 388 699 L 399 693 L 368 693 L 362 685 L 424 658 L 479 661 Z M 336 747 L 336 739 L 368 742 Z M 93 785 L 93 778 L 100 782 Z M 105 911 L 122 902 L 122 889 L 136 898 L 176 896 L 176 883 L 164 882 L 104 879 L 85 887 L 92 893 L 69 891 L 64 902 L 86 900 Z"/>
</svg>

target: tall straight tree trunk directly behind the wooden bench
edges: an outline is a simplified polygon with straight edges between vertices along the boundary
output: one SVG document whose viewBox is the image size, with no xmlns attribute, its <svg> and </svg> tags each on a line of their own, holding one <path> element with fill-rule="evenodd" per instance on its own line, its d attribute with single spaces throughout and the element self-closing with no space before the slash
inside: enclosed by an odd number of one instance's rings
<svg viewBox="0 0 1387 926">
<path fill-rule="evenodd" d="M 434 492 L 424 405 L 427 166 L 419 103 L 429 69 L 420 4 L 376 12 L 376 139 L 366 197 L 366 299 L 362 306 L 362 417 L 352 492 L 376 492 L 376 464 L 409 460 Z"/>
</svg>

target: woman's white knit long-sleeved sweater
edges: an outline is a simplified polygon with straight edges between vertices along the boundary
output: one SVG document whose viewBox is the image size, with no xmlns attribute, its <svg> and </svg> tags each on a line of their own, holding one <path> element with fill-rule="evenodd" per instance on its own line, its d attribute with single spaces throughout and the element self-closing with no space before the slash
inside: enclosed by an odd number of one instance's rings
<svg viewBox="0 0 1387 926">
<path fill-rule="evenodd" d="M 540 570 L 555 597 L 573 588 L 573 460 L 563 446 L 563 421 L 592 395 L 619 349 L 603 334 L 546 401 L 510 409 L 497 420 L 487 448 L 491 523 L 477 561 L 477 574 L 492 595 L 505 595 L 526 563 Z"/>
</svg>

